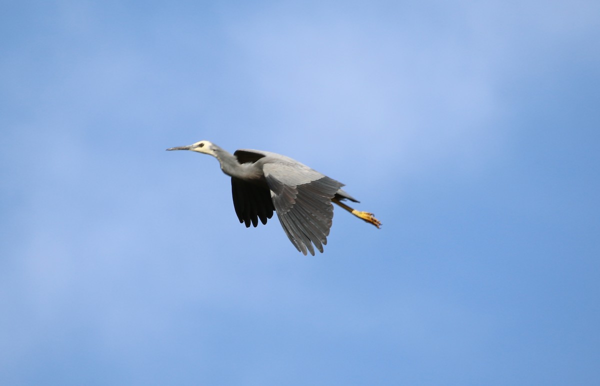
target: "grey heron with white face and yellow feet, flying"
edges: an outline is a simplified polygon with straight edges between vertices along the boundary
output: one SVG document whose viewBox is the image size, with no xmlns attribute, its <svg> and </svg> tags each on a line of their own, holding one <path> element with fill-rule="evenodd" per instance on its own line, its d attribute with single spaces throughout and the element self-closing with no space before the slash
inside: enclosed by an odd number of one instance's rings
<svg viewBox="0 0 600 386">
<path fill-rule="evenodd" d="M 208 140 L 167 150 L 190 150 L 217 158 L 221 170 L 231 177 L 239 222 L 256 228 L 259 220 L 265 225 L 277 212 L 287 237 L 305 256 L 307 252 L 314 256 L 314 247 L 323 253 L 334 216 L 332 203 L 378 229 L 382 225 L 373 213 L 342 202 L 359 202 L 341 188 L 344 184 L 285 155 L 252 149 L 231 154 Z"/>
</svg>

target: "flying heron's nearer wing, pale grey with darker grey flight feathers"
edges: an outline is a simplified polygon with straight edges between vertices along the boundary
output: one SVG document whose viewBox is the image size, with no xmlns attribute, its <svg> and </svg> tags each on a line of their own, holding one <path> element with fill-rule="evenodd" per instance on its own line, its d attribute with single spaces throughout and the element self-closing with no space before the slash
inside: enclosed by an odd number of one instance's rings
<svg viewBox="0 0 600 386">
<path fill-rule="evenodd" d="M 265 163 L 263 172 L 292 244 L 304 255 L 308 250 L 314 256 L 313 244 L 323 252 L 334 216 L 331 199 L 343 184 L 291 158 Z"/>
</svg>

